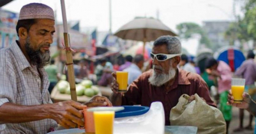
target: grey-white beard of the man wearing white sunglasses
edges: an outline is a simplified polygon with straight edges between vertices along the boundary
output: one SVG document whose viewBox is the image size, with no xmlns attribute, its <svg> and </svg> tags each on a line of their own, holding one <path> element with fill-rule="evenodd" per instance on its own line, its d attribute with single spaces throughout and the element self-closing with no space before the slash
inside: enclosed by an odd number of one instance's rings
<svg viewBox="0 0 256 134">
<path fill-rule="evenodd" d="M 156 66 L 153 65 L 153 69 Z M 157 66 L 157 68 L 162 69 L 160 66 Z M 151 77 L 149 77 L 149 83 L 152 84 L 153 86 L 162 86 L 163 84 L 169 82 L 169 80 L 171 80 L 172 78 L 174 78 L 176 75 L 176 70 L 174 68 L 172 68 L 172 66 L 170 65 L 170 69 L 169 69 L 169 73 L 165 74 L 165 73 L 161 73 L 161 74 L 157 74 L 154 72 L 153 70 L 153 74 L 151 75 Z"/>
</svg>

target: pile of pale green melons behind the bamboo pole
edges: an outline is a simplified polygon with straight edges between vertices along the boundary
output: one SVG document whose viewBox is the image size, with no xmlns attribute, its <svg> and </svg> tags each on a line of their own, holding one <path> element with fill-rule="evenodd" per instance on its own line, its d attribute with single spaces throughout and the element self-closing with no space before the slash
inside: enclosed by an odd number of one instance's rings
<svg viewBox="0 0 256 134">
<path fill-rule="evenodd" d="M 70 94 L 70 84 L 66 80 L 59 80 L 57 83 L 57 90 L 62 94 Z M 93 86 L 91 80 L 82 80 L 80 84 L 75 85 L 77 96 L 88 96 L 92 97 L 99 93 L 99 89 Z"/>
</svg>

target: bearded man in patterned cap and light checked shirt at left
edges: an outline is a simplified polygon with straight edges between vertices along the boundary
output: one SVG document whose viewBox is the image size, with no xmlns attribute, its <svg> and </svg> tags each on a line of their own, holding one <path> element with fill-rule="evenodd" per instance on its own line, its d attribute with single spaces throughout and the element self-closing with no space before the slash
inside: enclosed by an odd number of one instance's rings
<svg viewBox="0 0 256 134">
<path fill-rule="evenodd" d="M 23 6 L 16 29 L 19 40 L 0 50 L 0 133 L 47 133 L 56 130 L 57 123 L 83 126 L 79 110 L 112 106 L 101 96 L 85 105 L 50 100 L 43 66 L 49 63 L 55 32 L 52 8 L 40 3 Z"/>
</svg>

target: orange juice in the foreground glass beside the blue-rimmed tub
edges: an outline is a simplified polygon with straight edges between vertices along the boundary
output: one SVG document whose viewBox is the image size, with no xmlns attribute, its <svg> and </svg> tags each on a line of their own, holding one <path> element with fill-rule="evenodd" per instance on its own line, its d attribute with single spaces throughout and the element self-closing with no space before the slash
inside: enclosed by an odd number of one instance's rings
<svg viewBox="0 0 256 134">
<path fill-rule="evenodd" d="M 113 134 L 114 111 L 97 111 L 93 115 L 96 134 Z"/>
</svg>

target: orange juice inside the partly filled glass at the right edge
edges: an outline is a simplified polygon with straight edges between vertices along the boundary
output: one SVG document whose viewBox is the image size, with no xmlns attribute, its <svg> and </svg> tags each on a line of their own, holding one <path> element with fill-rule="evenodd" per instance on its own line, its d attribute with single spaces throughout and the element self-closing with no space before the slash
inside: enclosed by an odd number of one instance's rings
<svg viewBox="0 0 256 134">
<path fill-rule="evenodd" d="M 243 92 L 245 86 L 231 86 L 232 96 L 234 97 L 234 103 L 243 101 Z"/>
</svg>

